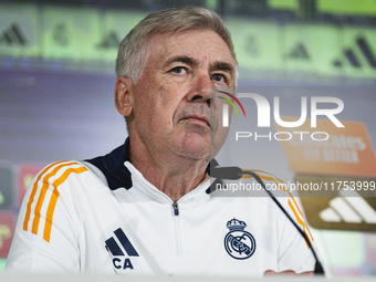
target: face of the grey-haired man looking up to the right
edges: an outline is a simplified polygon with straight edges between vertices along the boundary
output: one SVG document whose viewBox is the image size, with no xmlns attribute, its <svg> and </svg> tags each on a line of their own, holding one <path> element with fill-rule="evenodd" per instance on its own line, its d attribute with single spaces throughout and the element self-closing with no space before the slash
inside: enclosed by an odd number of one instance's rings
<svg viewBox="0 0 376 282">
<path fill-rule="evenodd" d="M 134 124 L 149 154 L 209 159 L 223 145 L 228 128 L 211 86 L 236 84 L 236 62 L 212 31 L 157 34 L 149 42 L 143 76 L 133 86 Z M 210 118 L 210 108 L 218 113 Z M 213 112 L 213 111 L 212 111 Z"/>
</svg>

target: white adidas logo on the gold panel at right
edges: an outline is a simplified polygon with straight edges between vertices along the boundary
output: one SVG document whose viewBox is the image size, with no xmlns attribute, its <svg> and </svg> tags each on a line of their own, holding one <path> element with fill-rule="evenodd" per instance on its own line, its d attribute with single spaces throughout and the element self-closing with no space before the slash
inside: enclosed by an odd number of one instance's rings
<svg viewBox="0 0 376 282">
<path fill-rule="evenodd" d="M 323 221 L 376 224 L 376 211 L 359 194 L 341 190 L 340 196 L 332 199 L 330 207 L 320 212 Z"/>
</svg>

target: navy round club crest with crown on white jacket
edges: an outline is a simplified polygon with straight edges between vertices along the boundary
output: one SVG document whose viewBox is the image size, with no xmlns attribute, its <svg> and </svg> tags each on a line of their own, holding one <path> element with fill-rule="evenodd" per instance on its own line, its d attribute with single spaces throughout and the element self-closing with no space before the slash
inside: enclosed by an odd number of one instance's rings
<svg viewBox="0 0 376 282">
<path fill-rule="evenodd" d="M 244 231 L 247 227 L 244 221 L 236 218 L 227 222 L 230 230 L 224 237 L 226 251 L 237 260 L 246 260 L 250 258 L 255 250 L 255 241 L 251 233 Z"/>
</svg>

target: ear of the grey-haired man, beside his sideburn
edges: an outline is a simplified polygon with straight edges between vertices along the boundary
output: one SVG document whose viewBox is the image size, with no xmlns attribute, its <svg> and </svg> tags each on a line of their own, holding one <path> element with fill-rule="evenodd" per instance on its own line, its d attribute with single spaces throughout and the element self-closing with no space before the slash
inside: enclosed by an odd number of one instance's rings
<svg viewBox="0 0 376 282">
<path fill-rule="evenodd" d="M 133 81 L 128 77 L 118 77 L 115 84 L 115 105 L 123 116 L 129 116 L 133 112 Z"/>
</svg>

